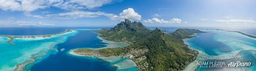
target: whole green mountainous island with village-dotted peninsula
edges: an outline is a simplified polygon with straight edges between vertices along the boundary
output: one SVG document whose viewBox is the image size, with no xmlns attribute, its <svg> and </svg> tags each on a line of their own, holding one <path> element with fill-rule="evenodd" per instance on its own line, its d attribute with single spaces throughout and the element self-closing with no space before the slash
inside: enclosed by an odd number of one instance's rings
<svg viewBox="0 0 256 71">
<path fill-rule="evenodd" d="M 195 33 L 205 33 L 196 29 L 177 29 L 164 33 L 156 28 L 149 30 L 141 22 L 128 19 L 111 29 L 96 31 L 103 39 L 130 44 L 122 48 L 74 50 L 87 56 L 126 57 L 137 64 L 138 71 L 181 71 L 197 58 L 198 52 L 188 48 L 182 39 L 192 38 Z"/>
</svg>

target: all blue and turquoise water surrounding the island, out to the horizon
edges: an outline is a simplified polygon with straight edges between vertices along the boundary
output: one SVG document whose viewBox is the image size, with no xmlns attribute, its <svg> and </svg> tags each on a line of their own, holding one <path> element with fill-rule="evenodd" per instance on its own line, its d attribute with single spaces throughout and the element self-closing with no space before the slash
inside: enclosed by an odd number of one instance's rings
<svg viewBox="0 0 256 71">
<path fill-rule="evenodd" d="M 84 27 L 1 27 L 0 35 L 47 35 L 63 32 L 66 29 L 81 29 Z M 174 32 L 177 28 L 171 27 L 166 32 Z M 193 27 L 191 27 L 193 28 Z M 161 28 L 160 28 L 161 29 Z M 197 28 L 196 28 L 197 29 Z M 199 29 L 199 28 L 198 28 Z M 203 28 L 200 28 L 203 29 Z M 231 29 L 225 29 L 231 30 Z M 202 30 L 208 33 L 197 34 L 196 38 L 187 40 L 191 49 L 199 51 L 197 60 L 187 67 L 197 71 L 216 70 L 195 67 L 197 61 L 222 60 L 226 62 L 241 60 L 256 64 L 256 39 L 241 35 L 235 32 L 225 32 L 217 30 Z M 241 31 L 256 35 L 254 29 L 233 29 L 231 31 Z M 7 37 L 0 37 L 0 71 L 13 70 L 17 64 L 30 63 L 25 69 L 31 71 L 137 71 L 136 67 L 118 70 L 113 64 L 127 64 L 127 59 L 119 58 L 117 62 L 106 62 L 97 57 L 74 56 L 68 52 L 76 48 L 102 48 L 107 43 L 102 42 L 98 34 L 90 29 L 76 30 L 62 35 L 55 35 L 46 39 L 42 38 L 16 38 L 14 45 L 4 43 L 9 40 Z M 207 42 L 205 42 L 207 41 Z M 55 45 L 54 45 L 55 44 Z M 49 48 L 54 45 L 53 48 Z M 122 63 L 118 63 L 122 62 Z M 236 68 L 227 68 L 228 70 Z M 256 69 L 255 65 L 241 67 L 247 71 Z"/>
</svg>

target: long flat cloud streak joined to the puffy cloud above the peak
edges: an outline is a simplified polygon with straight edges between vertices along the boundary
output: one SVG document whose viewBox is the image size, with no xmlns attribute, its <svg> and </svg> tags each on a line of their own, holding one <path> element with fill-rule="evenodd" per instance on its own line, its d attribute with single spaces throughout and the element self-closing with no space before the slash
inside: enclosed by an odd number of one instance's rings
<svg viewBox="0 0 256 71">
<path fill-rule="evenodd" d="M 105 16 L 110 18 L 111 20 L 123 20 L 127 19 L 135 19 L 140 20 L 141 16 L 134 11 L 132 8 L 128 8 L 123 10 L 119 15 L 105 13 L 105 12 L 90 12 L 90 11 L 70 11 L 59 14 L 49 14 L 46 17 L 52 18 L 61 18 L 61 19 L 70 19 L 70 18 L 97 18 L 100 16 Z"/>
</svg>

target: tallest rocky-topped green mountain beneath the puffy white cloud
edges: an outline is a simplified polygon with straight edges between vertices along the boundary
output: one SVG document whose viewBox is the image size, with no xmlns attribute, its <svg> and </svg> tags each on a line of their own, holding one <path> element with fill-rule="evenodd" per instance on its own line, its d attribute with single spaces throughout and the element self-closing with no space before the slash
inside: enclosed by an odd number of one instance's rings
<svg viewBox="0 0 256 71">
<path fill-rule="evenodd" d="M 144 37 L 150 30 L 143 26 L 141 22 L 132 22 L 128 19 L 118 23 L 117 26 L 111 29 L 101 29 L 97 31 L 100 37 L 115 42 L 132 43 Z"/>
</svg>

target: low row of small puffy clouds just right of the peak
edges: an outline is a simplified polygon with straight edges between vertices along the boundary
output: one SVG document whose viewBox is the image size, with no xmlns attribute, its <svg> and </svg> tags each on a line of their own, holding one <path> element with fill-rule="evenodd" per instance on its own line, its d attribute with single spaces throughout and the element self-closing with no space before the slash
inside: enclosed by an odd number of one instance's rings
<svg viewBox="0 0 256 71">
<path fill-rule="evenodd" d="M 152 18 L 148 20 L 144 20 L 144 22 L 147 23 L 182 23 L 182 20 L 180 18 L 172 18 L 170 20 L 164 20 L 164 19 L 158 19 L 158 18 Z M 183 23 L 187 23 L 186 21 Z"/>
</svg>

